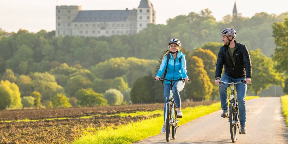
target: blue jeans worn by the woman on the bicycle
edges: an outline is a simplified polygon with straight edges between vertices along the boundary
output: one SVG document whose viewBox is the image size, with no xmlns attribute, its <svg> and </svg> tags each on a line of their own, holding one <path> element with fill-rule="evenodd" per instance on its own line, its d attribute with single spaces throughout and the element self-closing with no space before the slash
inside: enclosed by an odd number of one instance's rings
<svg viewBox="0 0 288 144">
<path fill-rule="evenodd" d="M 164 84 L 164 121 L 165 121 L 165 112 L 166 112 L 166 101 L 169 99 L 169 93 L 170 93 L 170 84 Z M 183 90 L 184 88 L 184 82 L 182 81 L 176 81 L 172 87 L 173 92 L 173 98 L 176 103 L 176 107 L 181 107 L 181 99 L 179 92 Z"/>
</svg>

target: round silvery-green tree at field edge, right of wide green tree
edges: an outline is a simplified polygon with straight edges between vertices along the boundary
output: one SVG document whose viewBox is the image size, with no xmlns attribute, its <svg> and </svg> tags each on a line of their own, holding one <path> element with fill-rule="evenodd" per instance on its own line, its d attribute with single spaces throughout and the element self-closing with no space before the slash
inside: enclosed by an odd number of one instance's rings
<svg viewBox="0 0 288 144">
<path fill-rule="evenodd" d="M 116 89 L 106 90 L 104 98 L 107 99 L 109 105 L 121 105 L 123 102 L 123 94 Z"/>
</svg>

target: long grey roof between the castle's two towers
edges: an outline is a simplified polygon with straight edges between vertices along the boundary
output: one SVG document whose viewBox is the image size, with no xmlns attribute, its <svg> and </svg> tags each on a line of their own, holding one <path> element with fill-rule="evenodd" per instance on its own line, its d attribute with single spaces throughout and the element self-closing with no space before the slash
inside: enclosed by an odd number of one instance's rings
<svg viewBox="0 0 288 144">
<path fill-rule="evenodd" d="M 73 22 L 124 22 L 132 10 L 81 10 Z"/>
</svg>

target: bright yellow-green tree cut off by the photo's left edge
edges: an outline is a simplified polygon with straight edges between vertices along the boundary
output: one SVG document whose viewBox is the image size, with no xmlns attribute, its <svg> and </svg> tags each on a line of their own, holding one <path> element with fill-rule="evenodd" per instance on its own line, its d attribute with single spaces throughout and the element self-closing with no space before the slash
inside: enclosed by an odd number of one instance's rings
<svg viewBox="0 0 288 144">
<path fill-rule="evenodd" d="M 15 83 L 1 80 L 0 82 L 0 109 L 22 109 L 19 88 Z"/>
</svg>

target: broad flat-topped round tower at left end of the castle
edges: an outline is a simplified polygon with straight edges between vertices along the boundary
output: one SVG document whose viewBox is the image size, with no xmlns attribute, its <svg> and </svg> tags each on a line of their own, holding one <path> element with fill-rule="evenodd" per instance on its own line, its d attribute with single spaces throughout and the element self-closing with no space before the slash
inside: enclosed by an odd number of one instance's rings
<svg viewBox="0 0 288 144">
<path fill-rule="evenodd" d="M 58 37 L 59 34 L 63 37 L 65 35 L 72 35 L 72 22 L 81 9 L 81 6 L 77 5 L 56 6 L 56 37 Z"/>
</svg>

